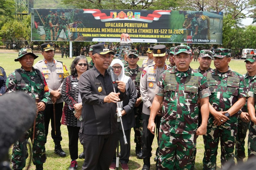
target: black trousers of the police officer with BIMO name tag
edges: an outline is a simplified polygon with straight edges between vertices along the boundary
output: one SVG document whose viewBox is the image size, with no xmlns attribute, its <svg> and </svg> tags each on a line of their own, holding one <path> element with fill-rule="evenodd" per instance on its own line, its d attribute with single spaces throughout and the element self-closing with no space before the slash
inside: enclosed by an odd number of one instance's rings
<svg viewBox="0 0 256 170">
<path fill-rule="evenodd" d="M 63 109 L 63 102 L 62 103 L 56 103 L 55 104 L 55 119 L 56 119 L 56 135 L 54 131 L 54 114 L 53 114 L 53 104 L 47 104 L 44 109 L 44 127 L 45 127 L 45 143 L 48 135 L 48 129 L 49 129 L 49 123 L 51 120 L 51 138 L 54 142 L 59 143 L 62 141 L 61 137 L 61 115 L 62 115 L 62 109 Z"/>
</svg>

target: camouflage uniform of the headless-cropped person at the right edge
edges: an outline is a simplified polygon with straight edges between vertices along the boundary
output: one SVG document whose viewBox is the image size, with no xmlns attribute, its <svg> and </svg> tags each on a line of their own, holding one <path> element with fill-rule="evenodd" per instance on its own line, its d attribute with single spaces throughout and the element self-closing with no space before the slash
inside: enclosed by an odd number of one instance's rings
<svg viewBox="0 0 256 170">
<path fill-rule="evenodd" d="M 252 83 L 252 86 L 248 92 L 249 97 L 254 98 L 254 108 L 256 110 L 256 81 Z M 249 134 L 248 134 L 248 158 L 256 156 L 256 124 L 250 121 Z"/>
</svg>

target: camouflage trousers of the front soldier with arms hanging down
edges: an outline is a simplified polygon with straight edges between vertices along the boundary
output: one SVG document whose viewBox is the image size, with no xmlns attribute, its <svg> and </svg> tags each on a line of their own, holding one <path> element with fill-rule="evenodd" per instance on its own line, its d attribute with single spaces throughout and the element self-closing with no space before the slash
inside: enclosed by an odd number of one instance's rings
<svg viewBox="0 0 256 170">
<path fill-rule="evenodd" d="M 196 134 L 174 134 L 170 136 L 159 131 L 157 169 L 191 169 L 190 159 L 196 143 Z"/>
</svg>

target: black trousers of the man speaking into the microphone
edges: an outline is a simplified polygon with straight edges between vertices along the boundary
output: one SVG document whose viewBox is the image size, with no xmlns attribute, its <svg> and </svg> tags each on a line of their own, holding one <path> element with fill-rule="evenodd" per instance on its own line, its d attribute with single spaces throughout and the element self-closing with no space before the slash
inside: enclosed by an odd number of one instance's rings
<svg viewBox="0 0 256 170">
<path fill-rule="evenodd" d="M 84 134 L 84 164 L 82 170 L 106 170 L 117 148 L 117 132 L 108 135 Z"/>
</svg>

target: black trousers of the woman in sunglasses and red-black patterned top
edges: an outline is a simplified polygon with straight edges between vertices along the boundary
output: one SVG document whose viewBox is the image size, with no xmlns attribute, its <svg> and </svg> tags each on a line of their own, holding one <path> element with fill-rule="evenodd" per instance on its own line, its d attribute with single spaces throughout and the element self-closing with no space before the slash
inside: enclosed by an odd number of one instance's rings
<svg viewBox="0 0 256 170">
<path fill-rule="evenodd" d="M 72 160 L 78 159 L 78 133 L 80 127 L 67 126 L 69 134 L 69 154 Z"/>
</svg>

